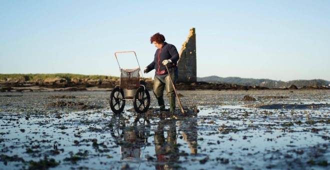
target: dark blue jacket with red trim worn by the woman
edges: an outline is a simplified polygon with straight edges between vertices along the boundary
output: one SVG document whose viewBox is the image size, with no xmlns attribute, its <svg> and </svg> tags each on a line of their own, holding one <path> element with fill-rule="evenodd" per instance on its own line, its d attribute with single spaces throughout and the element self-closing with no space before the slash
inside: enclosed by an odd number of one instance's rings
<svg viewBox="0 0 330 170">
<path fill-rule="evenodd" d="M 164 42 L 160 49 L 157 48 L 156 52 L 154 53 L 153 61 L 146 67 L 149 71 L 152 69 L 155 69 L 156 71 L 165 70 L 166 67 L 162 64 L 162 61 L 165 59 L 170 59 L 172 61 L 171 63 L 166 64 L 168 69 L 175 67 L 179 59 L 176 47 L 167 42 Z"/>
</svg>

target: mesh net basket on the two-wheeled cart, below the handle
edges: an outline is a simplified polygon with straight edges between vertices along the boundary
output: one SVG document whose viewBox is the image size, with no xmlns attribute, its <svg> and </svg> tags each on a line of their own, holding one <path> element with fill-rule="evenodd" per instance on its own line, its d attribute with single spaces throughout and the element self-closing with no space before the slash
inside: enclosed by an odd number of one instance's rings
<svg viewBox="0 0 330 170">
<path fill-rule="evenodd" d="M 120 88 L 136 89 L 140 86 L 140 68 L 123 69 L 120 74 Z"/>
</svg>

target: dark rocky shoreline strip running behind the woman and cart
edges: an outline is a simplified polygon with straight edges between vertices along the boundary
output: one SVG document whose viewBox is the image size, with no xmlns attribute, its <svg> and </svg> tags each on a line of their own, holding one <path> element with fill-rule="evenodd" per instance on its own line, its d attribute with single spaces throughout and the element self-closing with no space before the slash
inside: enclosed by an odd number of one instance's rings
<svg viewBox="0 0 330 170">
<path fill-rule="evenodd" d="M 119 80 L 77 80 L 66 81 L 65 79 L 39 80 L 39 81 L 2 81 L 0 82 L 0 92 L 26 92 L 26 91 L 111 91 L 116 85 L 120 84 Z M 153 89 L 153 80 L 140 79 L 140 84 L 144 84 L 148 90 Z M 298 88 L 290 85 L 286 88 L 268 88 L 258 85 L 239 85 L 228 83 L 209 83 L 204 81 L 197 82 L 177 82 L 175 85 L 177 90 L 305 90 L 305 89 L 330 89 L 322 85 L 307 85 Z"/>
</svg>

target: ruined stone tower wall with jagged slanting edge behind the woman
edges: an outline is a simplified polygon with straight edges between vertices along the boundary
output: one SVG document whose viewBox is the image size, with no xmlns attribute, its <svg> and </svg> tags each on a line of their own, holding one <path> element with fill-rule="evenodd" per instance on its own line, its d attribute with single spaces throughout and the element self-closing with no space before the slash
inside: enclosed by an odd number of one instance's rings
<svg viewBox="0 0 330 170">
<path fill-rule="evenodd" d="M 196 82 L 196 34 L 195 28 L 190 28 L 187 40 L 182 44 L 177 61 L 178 82 Z"/>
</svg>

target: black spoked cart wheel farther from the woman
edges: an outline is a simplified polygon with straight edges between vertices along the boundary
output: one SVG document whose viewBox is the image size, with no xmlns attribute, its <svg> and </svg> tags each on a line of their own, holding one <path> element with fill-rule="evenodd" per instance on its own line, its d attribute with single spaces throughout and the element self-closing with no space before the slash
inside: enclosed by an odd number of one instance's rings
<svg viewBox="0 0 330 170">
<path fill-rule="evenodd" d="M 124 94 L 121 88 L 115 87 L 110 93 L 110 108 L 111 110 L 118 114 L 123 110 L 125 106 L 125 100 L 123 100 Z"/>
</svg>

